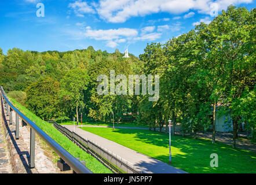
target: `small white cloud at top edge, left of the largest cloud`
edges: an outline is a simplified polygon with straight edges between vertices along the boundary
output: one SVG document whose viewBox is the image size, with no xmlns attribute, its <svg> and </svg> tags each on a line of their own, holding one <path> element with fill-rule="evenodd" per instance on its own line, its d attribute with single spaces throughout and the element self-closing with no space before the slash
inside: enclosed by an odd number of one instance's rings
<svg viewBox="0 0 256 185">
<path fill-rule="evenodd" d="M 83 15 L 85 13 L 96 13 L 92 6 L 89 6 L 86 2 L 83 2 L 82 0 L 70 3 L 68 7 L 74 9 L 74 12 L 78 17 L 85 17 Z"/>
</svg>

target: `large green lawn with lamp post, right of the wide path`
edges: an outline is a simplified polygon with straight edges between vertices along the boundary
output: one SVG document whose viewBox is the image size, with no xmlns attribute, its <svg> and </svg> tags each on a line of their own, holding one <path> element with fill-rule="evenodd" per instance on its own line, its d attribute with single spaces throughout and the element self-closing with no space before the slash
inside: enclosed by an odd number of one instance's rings
<svg viewBox="0 0 256 185">
<path fill-rule="evenodd" d="M 140 129 L 83 127 L 86 131 L 113 140 L 158 160 L 169 161 L 169 135 Z M 211 153 L 218 154 L 218 168 L 211 168 Z M 189 173 L 256 173 L 256 153 L 206 139 L 171 136 L 173 166 Z"/>
</svg>

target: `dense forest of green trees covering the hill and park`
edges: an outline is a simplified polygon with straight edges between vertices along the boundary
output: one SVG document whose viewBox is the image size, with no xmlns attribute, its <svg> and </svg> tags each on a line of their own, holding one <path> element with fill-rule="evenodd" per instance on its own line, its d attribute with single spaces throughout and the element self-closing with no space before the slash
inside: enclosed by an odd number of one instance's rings
<svg viewBox="0 0 256 185">
<path fill-rule="evenodd" d="M 83 112 L 94 120 L 119 121 L 123 113 L 136 114 L 138 123 L 149 127 L 180 123 L 184 134 L 213 126 L 217 116 L 230 115 L 233 147 L 242 123 L 256 138 L 255 9 L 229 6 L 210 24 L 165 44 L 151 43 L 139 58 L 84 50 L 67 52 L 0 49 L 0 83 L 42 119 L 72 119 Z M 98 95 L 97 76 L 115 74 L 159 75 L 160 97 L 148 95 Z M 138 114 L 137 114 L 138 113 Z"/>
</svg>

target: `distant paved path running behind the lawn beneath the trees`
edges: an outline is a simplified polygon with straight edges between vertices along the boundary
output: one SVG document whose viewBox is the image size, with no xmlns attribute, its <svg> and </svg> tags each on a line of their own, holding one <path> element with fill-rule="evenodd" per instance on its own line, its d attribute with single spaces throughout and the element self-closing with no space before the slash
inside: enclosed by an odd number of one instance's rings
<svg viewBox="0 0 256 185">
<path fill-rule="evenodd" d="M 77 127 L 81 127 L 81 125 L 78 125 Z M 99 125 L 82 125 L 82 127 L 99 127 L 99 128 L 112 128 L 111 126 L 99 126 Z M 115 127 L 115 128 L 126 128 L 126 129 L 149 129 L 145 127 Z M 172 128 L 172 127 L 171 127 Z M 163 128 L 164 131 L 165 127 Z M 156 131 L 158 131 L 159 128 L 156 128 Z M 175 134 L 177 135 L 182 135 L 181 132 L 179 131 L 178 125 L 175 128 Z M 212 135 L 210 132 L 198 132 L 197 136 L 199 138 L 204 138 L 204 139 L 211 139 Z M 245 136 L 244 134 L 239 134 L 239 136 Z M 232 145 L 233 143 L 233 134 L 232 133 L 220 133 L 217 132 L 215 139 L 218 142 L 225 143 L 226 145 Z M 248 150 L 248 151 L 253 151 L 256 153 L 256 144 L 251 143 L 250 140 L 239 140 L 236 139 L 236 147 L 239 149 L 243 150 Z"/>
</svg>

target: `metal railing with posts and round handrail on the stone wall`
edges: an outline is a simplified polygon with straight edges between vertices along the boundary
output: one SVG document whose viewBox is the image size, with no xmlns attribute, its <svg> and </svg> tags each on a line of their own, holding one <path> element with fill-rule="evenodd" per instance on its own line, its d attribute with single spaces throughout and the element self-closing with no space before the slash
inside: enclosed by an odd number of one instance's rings
<svg viewBox="0 0 256 185">
<path fill-rule="evenodd" d="M 49 145 L 62 160 L 64 160 L 76 173 L 92 173 L 85 165 L 72 156 L 67 150 L 63 149 L 55 140 L 50 138 L 45 132 L 42 131 L 33 121 L 24 116 L 19 109 L 15 108 L 7 98 L 3 87 L 1 86 L 1 101 L 6 109 L 6 116 L 10 116 L 9 124 L 12 124 L 12 112 L 16 113 L 16 132 L 15 138 L 19 139 L 19 118 L 30 126 L 30 168 L 35 167 L 35 133 L 38 134 Z M 3 107 L 4 108 L 4 107 Z"/>
</svg>

